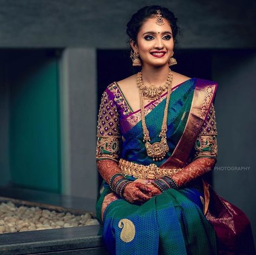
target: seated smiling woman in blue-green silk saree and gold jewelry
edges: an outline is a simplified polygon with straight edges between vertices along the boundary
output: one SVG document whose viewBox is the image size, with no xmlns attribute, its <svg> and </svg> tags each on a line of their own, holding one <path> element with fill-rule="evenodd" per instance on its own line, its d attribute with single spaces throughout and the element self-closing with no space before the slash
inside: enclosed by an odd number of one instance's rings
<svg viewBox="0 0 256 255">
<path fill-rule="evenodd" d="M 111 254 L 221 254 L 202 179 L 217 160 L 217 83 L 170 70 L 176 20 L 156 5 L 132 16 L 126 31 L 141 71 L 102 95 L 97 217 Z"/>
</svg>

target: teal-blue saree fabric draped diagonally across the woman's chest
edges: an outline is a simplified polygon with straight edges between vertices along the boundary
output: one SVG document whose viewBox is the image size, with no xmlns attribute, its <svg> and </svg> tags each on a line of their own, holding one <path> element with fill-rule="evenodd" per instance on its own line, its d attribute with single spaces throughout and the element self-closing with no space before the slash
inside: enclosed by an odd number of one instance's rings
<svg viewBox="0 0 256 255">
<path fill-rule="evenodd" d="M 176 147 L 181 135 L 183 134 L 188 113 L 190 112 L 191 102 L 193 98 L 194 87 L 196 82 L 191 79 L 182 86 L 176 88 L 172 94 L 169 103 L 168 119 L 167 119 L 167 142 L 169 152 L 167 157 L 171 156 L 173 149 Z M 147 128 L 152 137 L 151 143 L 159 141 L 159 132 L 161 130 L 161 120 L 164 116 L 164 108 L 166 97 L 150 113 L 146 115 Z M 148 165 L 150 163 L 160 166 L 163 161 L 153 162 L 152 158 L 147 156 L 145 145 L 143 142 L 143 129 L 141 121 L 136 126 L 123 134 L 124 142 L 122 148 L 122 158 L 138 164 Z"/>
</svg>

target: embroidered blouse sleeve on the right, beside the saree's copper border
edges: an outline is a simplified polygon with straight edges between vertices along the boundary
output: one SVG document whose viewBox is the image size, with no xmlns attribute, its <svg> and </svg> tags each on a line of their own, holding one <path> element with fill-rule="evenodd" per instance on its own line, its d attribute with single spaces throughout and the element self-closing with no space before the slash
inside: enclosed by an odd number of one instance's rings
<svg viewBox="0 0 256 255">
<path fill-rule="evenodd" d="M 217 149 L 217 127 L 212 104 L 194 144 L 193 160 L 198 157 L 210 157 L 217 160 Z"/>
</svg>

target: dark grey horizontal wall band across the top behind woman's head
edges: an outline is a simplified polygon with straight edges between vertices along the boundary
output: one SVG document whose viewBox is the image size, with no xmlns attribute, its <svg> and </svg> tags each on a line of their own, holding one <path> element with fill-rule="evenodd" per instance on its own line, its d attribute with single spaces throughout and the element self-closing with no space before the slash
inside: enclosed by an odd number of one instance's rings
<svg viewBox="0 0 256 255">
<path fill-rule="evenodd" d="M 123 49 L 132 13 L 156 3 L 179 18 L 183 49 L 256 45 L 254 0 L 1 0 L 0 47 Z"/>
</svg>

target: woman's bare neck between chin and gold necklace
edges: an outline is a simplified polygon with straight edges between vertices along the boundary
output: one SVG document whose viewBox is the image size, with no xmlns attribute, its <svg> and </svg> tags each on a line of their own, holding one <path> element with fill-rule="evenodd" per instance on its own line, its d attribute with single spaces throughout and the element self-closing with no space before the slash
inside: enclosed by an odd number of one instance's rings
<svg viewBox="0 0 256 255">
<path fill-rule="evenodd" d="M 143 84 L 149 86 L 154 84 L 156 86 L 164 85 L 169 74 L 169 66 L 142 66 Z"/>
</svg>

